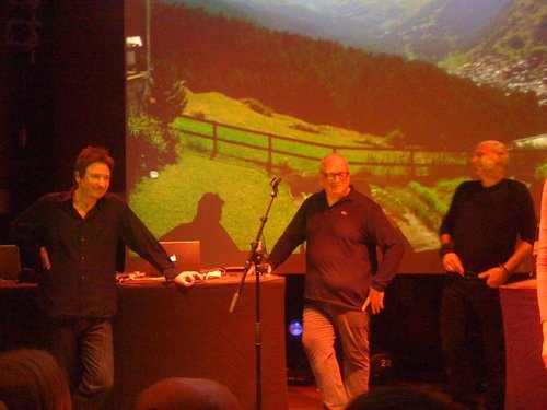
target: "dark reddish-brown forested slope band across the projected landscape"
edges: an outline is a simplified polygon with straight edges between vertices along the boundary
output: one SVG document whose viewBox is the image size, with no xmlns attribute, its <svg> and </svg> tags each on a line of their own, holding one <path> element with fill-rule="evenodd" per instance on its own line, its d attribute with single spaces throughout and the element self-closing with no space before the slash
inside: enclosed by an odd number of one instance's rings
<svg viewBox="0 0 547 410">
<path fill-rule="evenodd" d="M 398 131 L 407 147 L 456 150 L 484 138 L 511 141 L 545 131 L 545 113 L 533 97 L 479 87 L 424 61 L 184 4 L 153 2 L 151 24 L 168 27 L 151 33 L 153 68 L 168 68 L 195 92 L 255 98 L 306 122 L 375 136 Z"/>
</svg>

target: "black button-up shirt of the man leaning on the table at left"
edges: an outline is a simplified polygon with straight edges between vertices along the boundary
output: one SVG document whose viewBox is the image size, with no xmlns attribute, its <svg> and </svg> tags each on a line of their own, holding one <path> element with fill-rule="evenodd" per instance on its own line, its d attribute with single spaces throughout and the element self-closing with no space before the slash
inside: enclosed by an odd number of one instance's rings
<svg viewBox="0 0 547 410">
<path fill-rule="evenodd" d="M 12 223 L 20 246 L 47 249 L 51 269 L 38 280 L 38 302 L 46 315 L 112 317 L 120 245 L 166 278 L 177 274 L 165 250 L 121 198 L 106 194 L 82 218 L 73 208 L 72 196 L 72 190 L 46 195 Z"/>
</svg>

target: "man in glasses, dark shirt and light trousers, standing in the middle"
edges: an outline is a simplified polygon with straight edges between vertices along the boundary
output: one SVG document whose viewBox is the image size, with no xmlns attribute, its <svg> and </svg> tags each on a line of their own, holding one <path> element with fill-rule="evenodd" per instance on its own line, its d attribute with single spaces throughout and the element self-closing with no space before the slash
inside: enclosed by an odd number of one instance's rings
<svg viewBox="0 0 547 410">
<path fill-rule="evenodd" d="M 323 159 L 319 180 L 324 190 L 302 203 L 270 254 L 269 270 L 306 242 L 302 341 L 325 408 L 345 409 L 369 389 L 370 311 L 384 307 L 384 290 L 396 274 L 403 241 L 382 209 L 350 186 L 344 156 Z M 342 368 L 335 352 L 337 337 Z"/>
</svg>

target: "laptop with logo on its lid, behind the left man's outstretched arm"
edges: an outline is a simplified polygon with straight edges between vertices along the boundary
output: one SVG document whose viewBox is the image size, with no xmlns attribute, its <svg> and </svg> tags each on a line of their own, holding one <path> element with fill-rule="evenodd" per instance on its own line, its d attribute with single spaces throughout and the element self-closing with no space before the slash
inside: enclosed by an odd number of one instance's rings
<svg viewBox="0 0 547 410">
<path fill-rule="evenodd" d="M 201 243 L 199 241 L 160 242 L 160 245 L 163 246 L 179 272 L 200 271 Z M 135 254 L 127 254 L 125 265 L 128 272 L 140 271 L 151 277 L 160 274 L 152 265 Z"/>
</svg>

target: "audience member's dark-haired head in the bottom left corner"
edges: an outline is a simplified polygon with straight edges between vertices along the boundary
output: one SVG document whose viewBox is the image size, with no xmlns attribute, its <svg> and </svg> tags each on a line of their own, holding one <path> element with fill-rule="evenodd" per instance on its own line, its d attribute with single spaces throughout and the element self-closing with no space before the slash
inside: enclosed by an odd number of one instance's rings
<svg viewBox="0 0 547 410">
<path fill-rule="evenodd" d="M 34 349 L 0 355 L 0 402 L 10 410 L 72 409 L 61 368 L 49 353 Z"/>
</svg>

